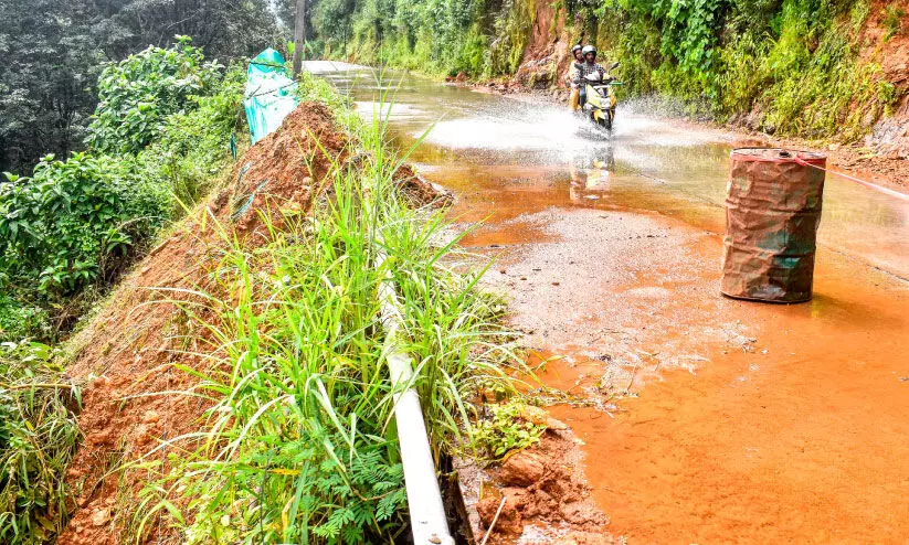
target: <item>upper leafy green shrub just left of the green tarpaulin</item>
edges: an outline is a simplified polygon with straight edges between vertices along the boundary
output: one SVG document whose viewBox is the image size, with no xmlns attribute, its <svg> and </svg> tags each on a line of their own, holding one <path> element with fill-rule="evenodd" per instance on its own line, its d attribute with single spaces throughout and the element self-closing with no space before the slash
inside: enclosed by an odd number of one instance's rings
<svg viewBox="0 0 909 545">
<path fill-rule="evenodd" d="M 98 106 L 87 143 L 102 152 L 138 152 L 158 135 L 165 118 L 216 89 L 222 66 L 177 36 L 170 49 L 149 47 L 107 66 L 98 78 Z"/>
</svg>

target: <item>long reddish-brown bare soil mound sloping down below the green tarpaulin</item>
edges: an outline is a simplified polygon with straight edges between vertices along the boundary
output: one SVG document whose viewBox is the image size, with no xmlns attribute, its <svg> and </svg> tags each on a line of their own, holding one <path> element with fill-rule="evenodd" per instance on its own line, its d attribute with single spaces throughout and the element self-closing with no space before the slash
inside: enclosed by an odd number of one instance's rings
<svg viewBox="0 0 909 545">
<path fill-rule="evenodd" d="M 161 445 L 199 425 L 205 404 L 175 393 L 187 387 L 188 375 L 173 364 L 203 370 L 210 348 L 193 318 L 163 301 L 192 297 L 180 290 L 213 289 L 207 274 L 216 267 L 224 243 L 211 215 L 244 244 L 260 244 L 264 237 L 254 236 L 264 231 L 260 213 L 308 211 L 324 194 L 332 165 L 347 161 L 348 143 L 324 105 L 302 104 L 281 129 L 243 154 L 228 188 L 152 249 L 78 333 L 70 374 L 86 383 L 80 416 L 84 441 L 67 473 L 77 509 L 60 544 L 123 543 L 125 528 L 134 524 L 128 517 L 137 492 L 160 469 L 120 468 L 144 457 L 165 463 Z M 425 203 L 437 196 L 412 171 L 400 170 L 397 178 L 411 199 Z M 278 217 L 273 215 L 274 223 Z M 162 537 L 168 531 L 152 527 L 151 533 Z"/>
</svg>

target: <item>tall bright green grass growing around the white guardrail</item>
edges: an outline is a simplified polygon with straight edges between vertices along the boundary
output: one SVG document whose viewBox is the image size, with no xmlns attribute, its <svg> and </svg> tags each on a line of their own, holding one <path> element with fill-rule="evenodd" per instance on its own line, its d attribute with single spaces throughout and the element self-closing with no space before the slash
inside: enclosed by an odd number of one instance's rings
<svg viewBox="0 0 909 545">
<path fill-rule="evenodd" d="M 456 241 L 440 242 L 441 212 L 404 203 L 384 126 L 350 130 L 356 159 L 334 164 L 313 212 L 284 211 L 281 228 L 263 214 L 256 249 L 224 233 L 211 284 L 181 303 L 208 332 L 194 393 L 211 406 L 200 434 L 169 444 L 139 536 L 163 512 L 188 543 L 372 543 L 406 530 L 378 295 L 389 276 L 436 452 L 464 445 L 477 393 L 510 388 L 500 306 L 476 275 L 443 265 Z"/>
</svg>

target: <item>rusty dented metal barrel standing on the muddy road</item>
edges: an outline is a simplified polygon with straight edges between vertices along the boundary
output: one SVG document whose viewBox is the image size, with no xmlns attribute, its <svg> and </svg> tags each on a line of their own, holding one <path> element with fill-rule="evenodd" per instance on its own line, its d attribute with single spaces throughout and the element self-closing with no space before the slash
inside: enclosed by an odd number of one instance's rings
<svg viewBox="0 0 909 545">
<path fill-rule="evenodd" d="M 722 284 L 737 299 L 811 299 L 826 157 L 739 148 L 730 153 Z"/>
</svg>

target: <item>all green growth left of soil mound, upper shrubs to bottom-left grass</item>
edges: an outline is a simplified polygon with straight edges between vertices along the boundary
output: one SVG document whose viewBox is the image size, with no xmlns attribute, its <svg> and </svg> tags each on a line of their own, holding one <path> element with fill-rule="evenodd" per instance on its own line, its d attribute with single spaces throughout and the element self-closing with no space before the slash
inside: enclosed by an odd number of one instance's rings
<svg viewBox="0 0 909 545">
<path fill-rule="evenodd" d="M 1 542 L 65 524 L 80 388 L 55 343 L 230 164 L 242 75 L 186 38 L 110 64 L 87 150 L 0 182 Z"/>
</svg>

